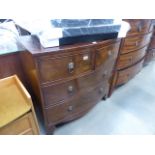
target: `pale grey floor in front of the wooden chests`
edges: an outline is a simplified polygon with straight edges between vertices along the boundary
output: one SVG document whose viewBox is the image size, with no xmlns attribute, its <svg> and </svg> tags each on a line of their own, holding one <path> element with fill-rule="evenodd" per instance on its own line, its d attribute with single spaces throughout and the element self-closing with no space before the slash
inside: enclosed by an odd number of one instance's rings
<svg viewBox="0 0 155 155">
<path fill-rule="evenodd" d="M 41 134 L 45 134 L 40 124 Z M 155 62 L 55 135 L 155 134 Z"/>
</svg>

